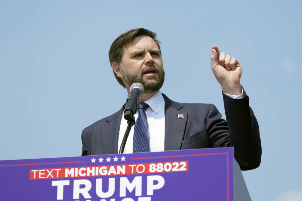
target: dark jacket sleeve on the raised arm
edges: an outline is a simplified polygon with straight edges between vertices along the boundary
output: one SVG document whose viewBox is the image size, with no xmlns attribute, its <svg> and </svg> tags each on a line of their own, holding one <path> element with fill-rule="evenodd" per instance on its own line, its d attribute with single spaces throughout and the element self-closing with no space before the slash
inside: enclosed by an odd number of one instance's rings
<svg viewBox="0 0 302 201">
<path fill-rule="evenodd" d="M 232 99 L 223 94 L 226 121 L 230 130 L 230 146 L 241 170 L 259 167 L 261 162 L 261 140 L 257 119 L 249 107 L 249 97 Z"/>
</svg>

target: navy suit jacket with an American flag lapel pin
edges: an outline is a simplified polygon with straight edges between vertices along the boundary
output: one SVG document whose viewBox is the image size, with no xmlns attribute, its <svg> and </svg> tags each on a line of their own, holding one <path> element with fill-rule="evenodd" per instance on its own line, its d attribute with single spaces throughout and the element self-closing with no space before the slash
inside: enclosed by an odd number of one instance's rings
<svg viewBox="0 0 302 201">
<path fill-rule="evenodd" d="M 234 146 L 234 157 L 242 170 L 259 167 L 259 126 L 249 107 L 249 98 L 232 99 L 223 94 L 226 119 L 212 104 L 179 103 L 165 99 L 165 151 Z M 113 115 L 82 132 L 82 155 L 117 154 L 124 106 Z M 184 118 L 178 118 L 183 114 Z"/>
</svg>

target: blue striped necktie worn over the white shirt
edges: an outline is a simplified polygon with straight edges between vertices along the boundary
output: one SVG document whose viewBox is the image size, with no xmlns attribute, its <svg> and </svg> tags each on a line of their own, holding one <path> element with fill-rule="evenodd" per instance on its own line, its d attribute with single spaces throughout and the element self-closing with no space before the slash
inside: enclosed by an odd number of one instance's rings
<svg viewBox="0 0 302 201">
<path fill-rule="evenodd" d="M 149 107 L 147 103 L 140 102 L 138 106 L 138 118 L 134 124 L 133 153 L 150 152 L 148 121 L 145 110 Z"/>
</svg>

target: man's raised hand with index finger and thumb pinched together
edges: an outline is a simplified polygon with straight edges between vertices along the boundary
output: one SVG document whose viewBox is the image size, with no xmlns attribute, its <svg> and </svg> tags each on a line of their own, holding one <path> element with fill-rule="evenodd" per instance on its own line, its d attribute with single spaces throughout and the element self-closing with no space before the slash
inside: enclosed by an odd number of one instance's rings
<svg viewBox="0 0 302 201">
<path fill-rule="evenodd" d="M 219 52 L 217 46 L 212 47 L 211 68 L 220 83 L 222 91 L 231 95 L 242 93 L 240 77 L 241 66 L 235 57 Z"/>
</svg>

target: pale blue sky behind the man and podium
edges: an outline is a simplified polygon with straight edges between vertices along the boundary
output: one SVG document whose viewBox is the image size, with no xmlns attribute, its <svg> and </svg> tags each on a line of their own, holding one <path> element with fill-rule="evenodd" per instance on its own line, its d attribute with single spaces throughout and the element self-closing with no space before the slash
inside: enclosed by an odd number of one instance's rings
<svg viewBox="0 0 302 201">
<path fill-rule="evenodd" d="M 162 42 L 162 92 L 224 115 L 211 47 L 236 57 L 262 140 L 252 200 L 302 199 L 301 1 L 1 1 L 0 160 L 81 154 L 81 132 L 125 102 L 108 50 L 143 27 Z"/>
</svg>

